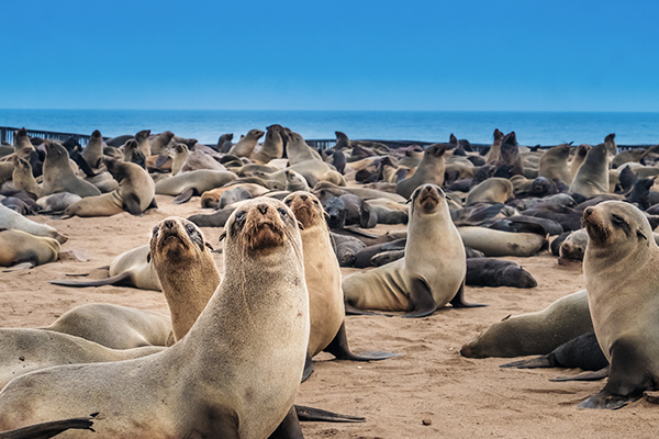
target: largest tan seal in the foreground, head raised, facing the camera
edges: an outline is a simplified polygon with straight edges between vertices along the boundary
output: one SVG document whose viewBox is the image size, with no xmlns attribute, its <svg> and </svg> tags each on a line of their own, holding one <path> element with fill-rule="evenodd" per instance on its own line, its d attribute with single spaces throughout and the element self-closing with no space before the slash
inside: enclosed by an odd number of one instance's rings
<svg viewBox="0 0 659 439">
<path fill-rule="evenodd" d="M 267 438 L 278 426 L 301 437 L 309 297 L 298 224 L 276 200 L 244 206 L 226 226 L 226 275 L 183 339 L 137 360 L 18 378 L 0 393 L 0 430 L 91 410 L 107 414 L 99 438 Z"/>
</svg>

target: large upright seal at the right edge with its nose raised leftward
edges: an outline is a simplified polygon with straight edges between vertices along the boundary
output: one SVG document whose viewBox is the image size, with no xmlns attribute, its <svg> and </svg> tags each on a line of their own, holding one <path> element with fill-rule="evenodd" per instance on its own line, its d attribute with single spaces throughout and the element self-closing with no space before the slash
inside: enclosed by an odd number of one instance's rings
<svg viewBox="0 0 659 439">
<path fill-rule="evenodd" d="M 604 389 L 579 406 L 618 408 L 659 383 L 659 247 L 645 214 L 625 202 L 587 207 L 583 224 L 590 313 L 611 369 Z"/>
</svg>

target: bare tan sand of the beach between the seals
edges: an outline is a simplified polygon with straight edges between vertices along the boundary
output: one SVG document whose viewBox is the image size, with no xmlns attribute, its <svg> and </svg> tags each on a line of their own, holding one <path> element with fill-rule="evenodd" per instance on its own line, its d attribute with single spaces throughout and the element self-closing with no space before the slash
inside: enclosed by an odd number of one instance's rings
<svg viewBox="0 0 659 439">
<path fill-rule="evenodd" d="M 66 258 L 30 270 L 0 275 L 0 325 L 38 327 L 85 303 L 114 303 L 168 314 L 160 292 L 102 286 L 71 289 L 48 280 L 91 273 L 101 278 L 122 251 L 148 243 L 160 219 L 202 213 L 199 198 L 176 205 L 156 196 L 159 209 L 143 217 L 57 219 L 31 216 L 68 236 L 64 252 L 77 250 L 87 261 Z M 206 211 L 208 212 L 208 211 Z M 379 225 L 372 232 L 404 226 Z M 221 228 L 203 228 L 220 247 Z M 222 255 L 213 254 L 220 271 Z M 302 423 L 306 438 L 608 438 L 654 436 L 657 407 L 640 399 L 616 410 L 588 410 L 577 404 L 599 392 L 604 382 L 555 383 L 551 378 L 579 370 L 509 370 L 507 359 L 467 359 L 460 347 L 491 324 L 513 314 L 539 311 L 555 300 L 584 288 L 579 266 L 562 267 L 548 252 L 532 258 L 504 258 L 529 271 L 538 286 L 467 288 L 468 302 L 487 307 L 440 309 L 431 317 L 403 319 L 348 316 L 348 340 L 354 352 L 387 350 L 394 359 L 357 363 L 336 361 L 327 353 L 315 358 L 315 372 L 300 387 L 297 403 L 366 417 L 364 424 Z M 343 269 L 344 275 L 355 269 Z"/>
</svg>

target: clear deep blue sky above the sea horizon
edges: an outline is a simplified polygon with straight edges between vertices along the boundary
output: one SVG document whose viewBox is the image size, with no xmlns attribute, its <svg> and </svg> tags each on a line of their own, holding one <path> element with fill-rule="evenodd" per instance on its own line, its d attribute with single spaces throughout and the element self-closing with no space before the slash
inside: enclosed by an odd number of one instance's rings
<svg viewBox="0 0 659 439">
<path fill-rule="evenodd" d="M 2 4 L 0 108 L 659 111 L 657 1 Z"/>
</svg>

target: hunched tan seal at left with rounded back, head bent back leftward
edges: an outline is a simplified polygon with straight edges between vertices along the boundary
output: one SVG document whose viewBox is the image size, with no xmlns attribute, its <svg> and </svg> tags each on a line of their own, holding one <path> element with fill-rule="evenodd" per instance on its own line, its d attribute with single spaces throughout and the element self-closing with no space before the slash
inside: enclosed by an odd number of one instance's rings
<svg viewBox="0 0 659 439">
<path fill-rule="evenodd" d="M 70 216 L 112 216 L 129 212 L 142 215 L 154 204 L 155 183 L 139 165 L 104 160 L 108 171 L 119 181 L 119 189 L 98 196 L 88 196 L 64 211 Z"/>
</svg>

